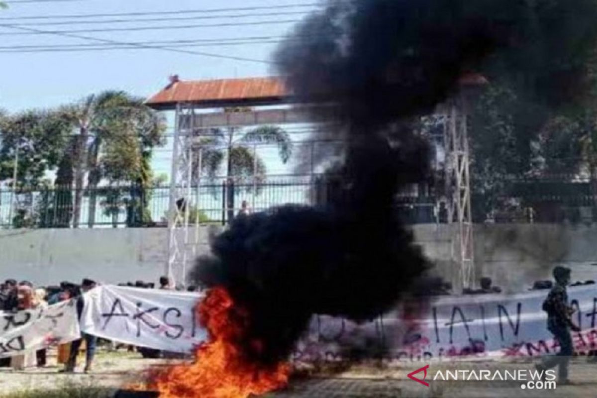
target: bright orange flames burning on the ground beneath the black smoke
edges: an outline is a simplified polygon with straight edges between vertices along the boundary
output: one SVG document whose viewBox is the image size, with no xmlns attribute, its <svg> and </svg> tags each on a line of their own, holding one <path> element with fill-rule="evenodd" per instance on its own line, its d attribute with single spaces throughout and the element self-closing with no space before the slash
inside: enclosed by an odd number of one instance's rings
<svg viewBox="0 0 597 398">
<path fill-rule="evenodd" d="M 239 341 L 247 325 L 246 311 L 235 306 L 224 288 L 211 289 L 196 307 L 209 340 L 199 345 L 195 361 L 172 366 L 153 375 L 149 387 L 160 398 L 246 398 L 288 384 L 290 366 L 264 368 L 243 355 Z M 254 347 L 261 342 L 255 341 Z"/>
</svg>

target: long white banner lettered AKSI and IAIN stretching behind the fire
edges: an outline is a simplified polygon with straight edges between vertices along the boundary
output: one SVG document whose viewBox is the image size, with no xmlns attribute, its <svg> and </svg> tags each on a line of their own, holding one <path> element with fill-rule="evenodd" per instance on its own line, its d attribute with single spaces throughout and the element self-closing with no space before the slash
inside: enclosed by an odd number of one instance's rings
<svg viewBox="0 0 597 398">
<path fill-rule="evenodd" d="M 315 316 L 293 358 L 306 362 L 379 355 L 386 362 L 533 357 L 553 354 L 558 344 L 546 327 L 541 305 L 549 291 L 515 295 L 436 297 L 357 324 Z M 597 285 L 568 289 L 576 309 L 577 353 L 597 350 Z M 85 295 L 82 329 L 110 340 L 190 352 L 206 338 L 195 319 L 201 296 L 172 291 L 101 286 Z M 423 306 L 423 307 L 421 307 Z"/>
</svg>

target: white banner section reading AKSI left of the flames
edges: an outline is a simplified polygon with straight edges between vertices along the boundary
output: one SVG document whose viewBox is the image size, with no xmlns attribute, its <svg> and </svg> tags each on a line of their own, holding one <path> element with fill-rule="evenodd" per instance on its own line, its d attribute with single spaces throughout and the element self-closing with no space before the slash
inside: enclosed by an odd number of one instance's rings
<svg viewBox="0 0 597 398">
<path fill-rule="evenodd" d="M 207 337 L 195 293 L 99 286 L 85 294 L 81 329 L 108 340 L 189 353 Z"/>
</svg>

